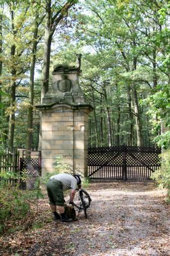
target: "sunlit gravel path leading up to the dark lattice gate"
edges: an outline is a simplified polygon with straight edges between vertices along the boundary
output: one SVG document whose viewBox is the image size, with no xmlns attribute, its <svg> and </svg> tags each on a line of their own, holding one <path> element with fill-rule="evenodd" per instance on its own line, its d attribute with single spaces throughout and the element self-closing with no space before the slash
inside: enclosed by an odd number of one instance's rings
<svg viewBox="0 0 170 256">
<path fill-rule="evenodd" d="M 74 256 L 170 255 L 169 213 L 153 184 L 93 184 L 90 193 L 89 220 L 72 230 Z"/>
</svg>

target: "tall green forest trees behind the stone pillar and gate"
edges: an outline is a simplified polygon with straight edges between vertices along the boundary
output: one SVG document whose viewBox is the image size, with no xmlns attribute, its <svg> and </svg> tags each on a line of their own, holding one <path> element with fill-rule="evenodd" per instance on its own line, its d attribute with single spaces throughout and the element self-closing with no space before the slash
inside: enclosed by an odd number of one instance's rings
<svg viewBox="0 0 170 256">
<path fill-rule="evenodd" d="M 75 63 L 89 147 L 170 147 L 169 1 L 1 1 L 0 146 L 38 148 L 41 102 L 58 63 Z"/>
</svg>

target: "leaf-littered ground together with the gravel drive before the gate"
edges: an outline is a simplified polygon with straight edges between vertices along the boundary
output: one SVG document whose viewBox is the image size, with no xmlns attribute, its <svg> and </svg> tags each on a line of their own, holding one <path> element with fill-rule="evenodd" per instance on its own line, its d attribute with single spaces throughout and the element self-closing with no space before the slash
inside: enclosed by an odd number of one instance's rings
<svg viewBox="0 0 170 256">
<path fill-rule="evenodd" d="M 50 222 L 25 234 L 23 239 L 32 237 L 33 244 L 9 255 L 170 255 L 170 214 L 164 191 L 142 182 L 93 183 L 87 190 L 92 199 L 88 219 L 79 214 L 72 223 Z M 42 211 L 47 209 L 46 200 Z"/>
</svg>

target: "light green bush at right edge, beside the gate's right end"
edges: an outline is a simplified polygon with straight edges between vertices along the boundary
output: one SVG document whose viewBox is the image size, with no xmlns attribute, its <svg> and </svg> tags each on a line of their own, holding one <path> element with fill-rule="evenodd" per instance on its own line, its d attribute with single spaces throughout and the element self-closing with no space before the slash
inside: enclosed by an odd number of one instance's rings
<svg viewBox="0 0 170 256">
<path fill-rule="evenodd" d="M 166 202 L 170 203 L 170 150 L 162 154 L 162 165 L 153 175 L 153 180 L 156 180 L 158 185 L 167 189 Z"/>
</svg>

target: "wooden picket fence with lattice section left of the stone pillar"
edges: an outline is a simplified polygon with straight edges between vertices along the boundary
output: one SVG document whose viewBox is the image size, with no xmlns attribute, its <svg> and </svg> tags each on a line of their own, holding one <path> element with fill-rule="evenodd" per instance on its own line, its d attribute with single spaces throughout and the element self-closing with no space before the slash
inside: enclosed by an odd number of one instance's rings
<svg viewBox="0 0 170 256">
<path fill-rule="evenodd" d="M 16 179 L 27 176 L 26 180 Z M 41 152 L 24 149 L 6 149 L 0 154 L 0 182 L 10 186 L 19 186 L 21 189 L 32 189 L 36 180 L 41 176 Z"/>
</svg>

